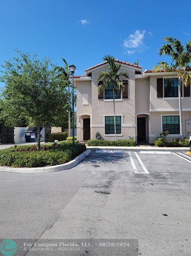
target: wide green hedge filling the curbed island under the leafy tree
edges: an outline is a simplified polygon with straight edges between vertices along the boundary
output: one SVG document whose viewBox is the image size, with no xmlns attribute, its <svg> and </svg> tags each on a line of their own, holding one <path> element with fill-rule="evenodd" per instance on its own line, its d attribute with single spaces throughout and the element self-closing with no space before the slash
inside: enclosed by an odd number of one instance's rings
<svg viewBox="0 0 191 256">
<path fill-rule="evenodd" d="M 60 143 L 48 150 L 13 150 L 14 147 L 0 150 L 0 166 L 12 167 L 43 167 L 67 163 L 86 151 L 86 145 L 76 143 Z"/>
</svg>

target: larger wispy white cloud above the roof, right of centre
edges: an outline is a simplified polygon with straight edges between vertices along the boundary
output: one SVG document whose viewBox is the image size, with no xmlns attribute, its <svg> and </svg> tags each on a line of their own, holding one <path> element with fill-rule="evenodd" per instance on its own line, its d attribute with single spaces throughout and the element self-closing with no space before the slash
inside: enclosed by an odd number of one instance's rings
<svg viewBox="0 0 191 256">
<path fill-rule="evenodd" d="M 123 46 L 125 48 L 139 48 L 143 45 L 144 36 L 145 30 L 142 32 L 136 30 L 134 34 L 129 35 L 127 39 L 123 40 Z"/>
</svg>

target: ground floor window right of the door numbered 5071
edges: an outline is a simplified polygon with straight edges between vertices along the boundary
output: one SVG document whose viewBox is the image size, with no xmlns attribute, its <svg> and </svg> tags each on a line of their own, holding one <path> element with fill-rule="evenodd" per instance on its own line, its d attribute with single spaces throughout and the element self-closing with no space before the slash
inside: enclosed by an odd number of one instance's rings
<svg viewBox="0 0 191 256">
<path fill-rule="evenodd" d="M 162 131 L 169 131 L 170 134 L 180 134 L 179 116 L 162 116 Z"/>
</svg>

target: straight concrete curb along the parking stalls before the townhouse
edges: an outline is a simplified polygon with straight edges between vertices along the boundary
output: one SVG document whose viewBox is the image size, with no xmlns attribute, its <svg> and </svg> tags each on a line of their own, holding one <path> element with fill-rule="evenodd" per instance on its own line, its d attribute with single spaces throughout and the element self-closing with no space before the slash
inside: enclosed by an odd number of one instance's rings
<svg viewBox="0 0 191 256">
<path fill-rule="evenodd" d="M 134 152 L 139 152 L 139 151 L 171 151 L 171 152 L 181 152 L 181 151 L 190 151 L 189 147 L 180 147 L 180 148 L 165 148 L 165 147 L 90 147 L 87 146 L 87 149 L 90 149 L 91 151 L 96 151 L 96 150 L 123 150 L 123 151 L 134 151 Z"/>
</svg>

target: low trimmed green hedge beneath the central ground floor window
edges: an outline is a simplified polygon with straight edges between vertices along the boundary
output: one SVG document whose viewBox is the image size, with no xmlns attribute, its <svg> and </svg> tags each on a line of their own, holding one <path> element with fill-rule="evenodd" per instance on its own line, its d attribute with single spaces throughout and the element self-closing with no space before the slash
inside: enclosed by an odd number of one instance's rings
<svg viewBox="0 0 191 256">
<path fill-rule="evenodd" d="M 88 140 L 88 146 L 135 147 L 135 140 Z"/>
</svg>

